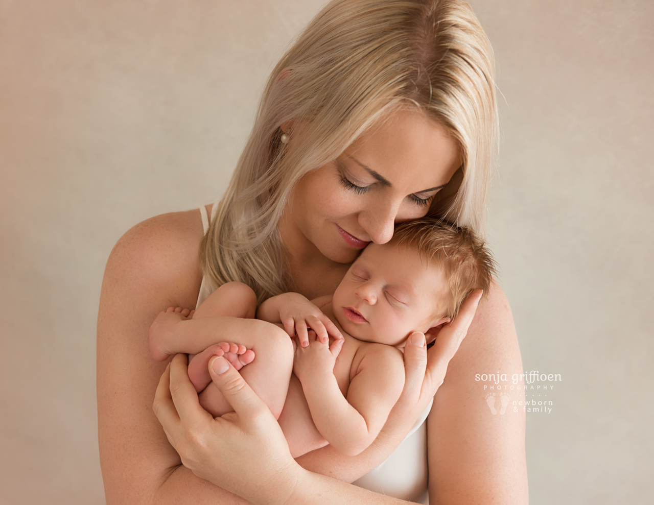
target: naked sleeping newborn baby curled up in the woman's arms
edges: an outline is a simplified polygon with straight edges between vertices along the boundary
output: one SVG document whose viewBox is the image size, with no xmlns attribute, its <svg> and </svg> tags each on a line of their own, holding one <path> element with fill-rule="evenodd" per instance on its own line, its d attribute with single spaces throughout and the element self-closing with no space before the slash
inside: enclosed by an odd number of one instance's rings
<svg viewBox="0 0 654 505">
<path fill-rule="evenodd" d="M 233 410 L 208 370 L 213 356 L 226 357 L 271 408 L 293 457 L 326 444 L 356 455 L 375 440 L 402 393 L 407 338 L 419 331 L 433 342 L 473 289 L 488 290 L 493 272 L 470 231 L 433 218 L 409 221 L 387 244 L 366 247 L 333 296 L 309 301 L 284 293 L 256 310 L 254 291 L 230 282 L 196 311 L 159 314 L 150 352 L 163 361 L 201 351 L 190 359 L 188 376 L 215 416 Z M 266 327 L 232 337 L 229 320 L 216 319 L 252 319 L 255 312 L 286 333 Z M 226 334 L 230 342 L 215 344 Z"/>
</svg>

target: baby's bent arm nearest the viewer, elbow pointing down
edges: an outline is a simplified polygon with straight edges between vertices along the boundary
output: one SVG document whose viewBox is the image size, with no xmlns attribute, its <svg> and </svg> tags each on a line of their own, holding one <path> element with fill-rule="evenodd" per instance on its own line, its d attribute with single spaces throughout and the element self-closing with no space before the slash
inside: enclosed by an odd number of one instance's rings
<svg viewBox="0 0 654 505">
<path fill-rule="evenodd" d="M 336 382 L 336 360 L 326 345 L 313 340 L 308 348 L 298 348 L 293 365 L 318 431 L 347 456 L 357 455 L 375 440 L 404 387 L 400 351 L 372 344 L 364 352 L 347 399 Z"/>
</svg>

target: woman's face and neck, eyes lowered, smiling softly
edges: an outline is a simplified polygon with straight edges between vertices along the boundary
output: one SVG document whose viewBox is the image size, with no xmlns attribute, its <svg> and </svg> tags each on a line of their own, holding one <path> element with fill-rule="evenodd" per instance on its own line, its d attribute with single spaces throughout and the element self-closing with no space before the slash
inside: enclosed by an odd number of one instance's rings
<svg viewBox="0 0 654 505">
<path fill-rule="evenodd" d="M 281 223 L 284 244 L 351 263 L 370 242 L 388 242 L 394 223 L 425 216 L 460 165 L 443 126 L 417 110 L 398 112 L 301 178 Z"/>
</svg>

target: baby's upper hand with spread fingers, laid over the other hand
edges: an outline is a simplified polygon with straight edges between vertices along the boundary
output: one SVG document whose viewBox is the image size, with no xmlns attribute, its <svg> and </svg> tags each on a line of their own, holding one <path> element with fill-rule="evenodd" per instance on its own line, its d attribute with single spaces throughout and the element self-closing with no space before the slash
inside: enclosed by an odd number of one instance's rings
<svg viewBox="0 0 654 505">
<path fill-rule="evenodd" d="M 282 296 L 284 302 L 279 310 L 279 319 L 288 336 L 298 335 L 300 347 L 309 346 L 309 329 L 315 331 L 322 344 L 329 342 L 330 335 L 336 340 L 343 340 L 343 335 L 330 318 L 322 314 L 322 310 L 305 297 L 298 293 L 286 293 Z"/>
</svg>

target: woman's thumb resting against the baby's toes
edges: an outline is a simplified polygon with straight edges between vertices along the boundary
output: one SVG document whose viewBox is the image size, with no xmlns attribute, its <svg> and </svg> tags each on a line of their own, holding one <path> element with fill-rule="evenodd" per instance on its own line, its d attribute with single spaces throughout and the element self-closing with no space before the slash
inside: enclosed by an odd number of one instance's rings
<svg viewBox="0 0 654 505">
<path fill-rule="evenodd" d="M 220 393 L 239 415 L 239 419 L 250 419 L 268 410 L 263 400 L 252 391 L 243 376 L 224 357 L 216 356 L 209 361 L 209 374 Z"/>
</svg>

